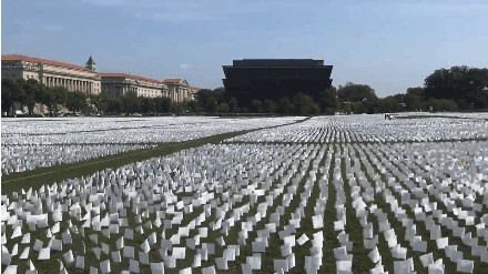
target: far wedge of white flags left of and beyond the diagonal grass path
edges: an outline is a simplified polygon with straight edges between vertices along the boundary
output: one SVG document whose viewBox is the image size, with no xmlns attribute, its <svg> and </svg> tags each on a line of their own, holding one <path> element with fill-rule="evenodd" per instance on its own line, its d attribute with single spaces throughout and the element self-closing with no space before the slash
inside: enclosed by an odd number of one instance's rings
<svg viewBox="0 0 488 274">
<path fill-rule="evenodd" d="M 159 143 L 289 123 L 287 119 L 63 118 L 3 119 L 2 174 L 73 163 Z"/>
</svg>

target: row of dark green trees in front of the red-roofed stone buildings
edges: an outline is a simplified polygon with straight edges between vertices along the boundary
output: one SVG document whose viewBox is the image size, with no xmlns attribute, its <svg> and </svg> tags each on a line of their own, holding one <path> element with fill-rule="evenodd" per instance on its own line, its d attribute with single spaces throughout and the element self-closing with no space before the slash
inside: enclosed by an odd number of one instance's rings
<svg viewBox="0 0 488 274">
<path fill-rule="evenodd" d="M 128 92 L 122 97 L 110 98 L 106 93 L 87 94 L 70 92 L 63 87 L 44 87 L 37 80 L 2 79 L 1 108 L 8 115 L 14 114 L 14 108 L 24 109 L 34 114 L 35 105 L 47 108 L 50 115 L 62 112 L 73 113 L 183 113 L 196 112 L 196 102 L 172 102 L 169 98 L 138 97 Z"/>
</svg>

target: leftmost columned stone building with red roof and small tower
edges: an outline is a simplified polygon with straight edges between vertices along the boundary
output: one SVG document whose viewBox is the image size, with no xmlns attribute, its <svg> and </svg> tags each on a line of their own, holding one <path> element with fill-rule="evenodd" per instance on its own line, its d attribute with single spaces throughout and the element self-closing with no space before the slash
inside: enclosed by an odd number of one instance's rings
<svg viewBox="0 0 488 274">
<path fill-rule="evenodd" d="M 2 78 L 35 79 L 45 87 L 64 87 L 69 91 L 99 94 L 100 77 L 90 57 L 85 67 L 18 54 L 2 55 Z"/>
</svg>

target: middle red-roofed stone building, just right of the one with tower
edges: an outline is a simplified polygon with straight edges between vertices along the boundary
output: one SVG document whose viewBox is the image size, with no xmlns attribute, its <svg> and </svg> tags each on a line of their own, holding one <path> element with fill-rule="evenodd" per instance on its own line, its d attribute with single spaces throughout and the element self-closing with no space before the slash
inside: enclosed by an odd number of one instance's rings
<svg viewBox="0 0 488 274">
<path fill-rule="evenodd" d="M 146 98 L 170 97 L 171 93 L 166 84 L 155 79 L 129 73 L 99 73 L 99 75 L 102 81 L 102 92 L 106 92 L 111 98 L 124 95 L 129 91 Z"/>
</svg>

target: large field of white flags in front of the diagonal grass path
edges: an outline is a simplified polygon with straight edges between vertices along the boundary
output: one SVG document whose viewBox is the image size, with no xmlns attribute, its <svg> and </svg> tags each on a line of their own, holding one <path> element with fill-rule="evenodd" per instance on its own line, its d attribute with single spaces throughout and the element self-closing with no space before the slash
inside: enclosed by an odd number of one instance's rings
<svg viewBox="0 0 488 274">
<path fill-rule="evenodd" d="M 316 116 L 2 193 L 2 270 L 488 273 L 487 140 L 476 115 Z"/>
</svg>

